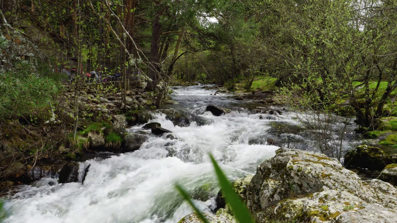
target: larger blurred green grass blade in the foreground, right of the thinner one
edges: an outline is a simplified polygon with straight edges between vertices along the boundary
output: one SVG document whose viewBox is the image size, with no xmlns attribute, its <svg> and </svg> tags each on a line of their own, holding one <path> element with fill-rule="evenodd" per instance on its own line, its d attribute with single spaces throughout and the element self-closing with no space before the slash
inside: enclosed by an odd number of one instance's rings
<svg viewBox="0 0 397 223">
<path fill-rule="evenodd" d="M 243 204 L 237 193 L 234 191 L 233 186 L 219 167 L 212 154 L 210 154 L 210 158 L 214 165 L 219 185 L 222 188 L 222 194 L 225 196 L 226 202 L 230 205 L 236 220 L 239 223 L 254 223 L 248 208 Z"/>
</svg>

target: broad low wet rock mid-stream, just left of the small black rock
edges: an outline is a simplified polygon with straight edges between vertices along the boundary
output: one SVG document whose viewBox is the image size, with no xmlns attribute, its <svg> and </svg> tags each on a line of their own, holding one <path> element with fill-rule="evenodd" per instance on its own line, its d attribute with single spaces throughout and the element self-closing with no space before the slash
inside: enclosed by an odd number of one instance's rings
<svg viewBox="0 0 397 223">
<path fill-rule="evenodd" d="M 158 112 L 165 114 L 167 120 L 172 121 L 174 125 L 179 127 L 187 127 L 193 121 L 195 121 L 198 126 L 206 125 L 209 122 L 209 120 L 205 117 L 201 117 L 183 110 L 163 109 L 158 110 Z"/>
</svg>

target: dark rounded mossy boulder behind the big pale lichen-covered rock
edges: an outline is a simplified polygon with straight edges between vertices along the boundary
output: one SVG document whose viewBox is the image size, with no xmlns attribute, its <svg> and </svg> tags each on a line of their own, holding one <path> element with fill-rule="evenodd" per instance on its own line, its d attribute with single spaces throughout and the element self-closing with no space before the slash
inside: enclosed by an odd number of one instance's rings
<svg viewBox="0 0 397 223">
<path fill-rule="evenodd" d="M 389 155 L 378 147 L 360 145 L 346 153 L 344 163 L 347 168 L 356 167 L 380 170 L 392 163 L 392 160 Z"/>
</svg>

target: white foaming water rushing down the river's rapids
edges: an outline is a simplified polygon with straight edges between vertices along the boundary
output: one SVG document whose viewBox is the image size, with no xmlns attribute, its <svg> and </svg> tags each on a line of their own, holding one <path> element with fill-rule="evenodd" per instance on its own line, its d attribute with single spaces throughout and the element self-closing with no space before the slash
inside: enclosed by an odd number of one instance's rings
<svg viewBox="0 0 397 223">
<path fill-rule="evenodd" d="M 266 145 L 263 140 L 258 142 L 258 139 L 277 135 L 304 144 L 302 136 L 297 134 L 301 131 L 299 128 L 283 129 L 284 125 L 297 125 L 289 112 L 260 119 L 260 114 L 239 108 L 236 100 L 227 94 L 210 95 L 215 90 L 178 87 L 175 92 L 173 99 L 180 104 L 174 108 L 206 117 L 210 123 L 178 127 L 164 115 L 156 115 L 151 121 L 160 122 L 162 127 L 171 130 L 175 139 L 166 138 L 166 135 L 150 135 L 140 150 L 81 163 L 81 173 L 85 166 L 91 164 L 84 185 L 50 186 L 48 182 L 54 179 L 42 179 L 33 186 L 22 186 L 6 203 L 10 213 L 6 222 L 177 222 L 192 210 L 175 192 L 175 183 L 193 195 L 200 186 L 206 185 L 212 198 L 196 200 L 196 203 L 202 211 L 210 211 L 214 205 L 213 197 L 219 188 L 208 153 L 215 156 L 229 179 L 233 180 L 254 174 L 260 162 L 275 155 L 278 147 Z M 227 115 L 215 117 L 204 112 L 208 104 L 234 109 Z M 136 126 L 129 131 L 142 131 L 141 127 Z M 170 153 L 173 157 L 168 156 Z"/>
</svg>

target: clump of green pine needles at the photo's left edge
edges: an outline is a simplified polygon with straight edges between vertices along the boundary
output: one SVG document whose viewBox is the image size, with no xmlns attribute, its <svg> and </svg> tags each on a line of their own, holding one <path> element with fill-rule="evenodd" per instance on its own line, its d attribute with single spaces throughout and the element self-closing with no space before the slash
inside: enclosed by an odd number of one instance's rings
<svg viewBox="0 0 397 223">
<path fill-rule="evenodd" d="M 0 117 L 27 115 L 54 103 L 53 97 L 60 91 L 61 77 L 50 71 L 48 65 L 33 66 L 19 62 L 13 71 L 0 77 Z"/>
</svg>

